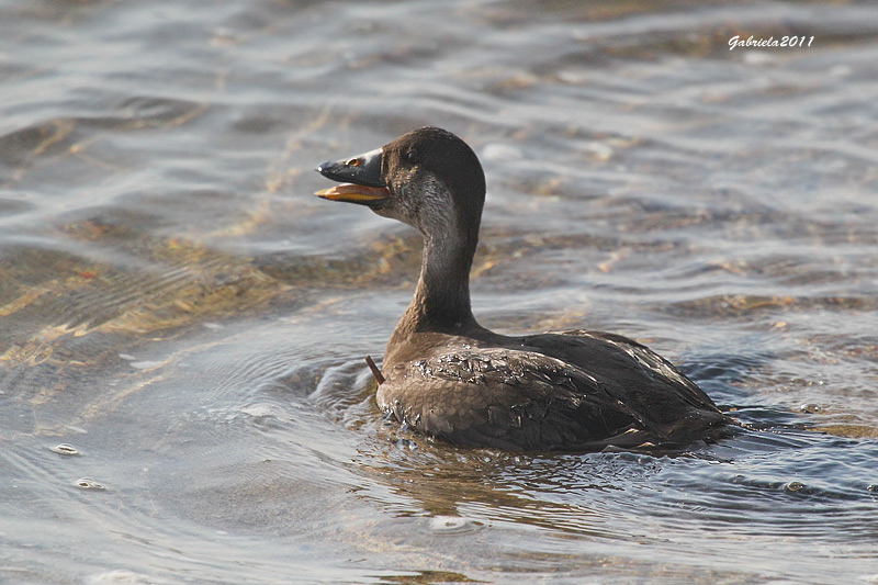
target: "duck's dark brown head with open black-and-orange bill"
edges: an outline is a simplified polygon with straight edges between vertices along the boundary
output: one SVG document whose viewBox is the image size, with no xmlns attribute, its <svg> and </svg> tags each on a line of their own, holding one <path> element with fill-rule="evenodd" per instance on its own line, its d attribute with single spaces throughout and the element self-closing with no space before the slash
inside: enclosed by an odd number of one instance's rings
<svg viewBox="0 0 878 585">
<path fill-rule="evenodd" d="M 370 153 L 324 162 L 317 171 L 341 182 L 318 196 L 365 205 L 427 237 L 449 232 L 477 237 L 485 173 L 475 153 L 448 131 L 419 128 Z"/>
</svg>

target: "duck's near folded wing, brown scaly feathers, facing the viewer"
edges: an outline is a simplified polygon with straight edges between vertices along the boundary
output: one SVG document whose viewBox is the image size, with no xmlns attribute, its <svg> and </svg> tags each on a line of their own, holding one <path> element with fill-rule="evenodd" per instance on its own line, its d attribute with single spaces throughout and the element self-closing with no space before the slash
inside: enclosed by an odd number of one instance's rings
<svg viewBox="0 0 878 585">
<path fill-rule="evenodd" d="M 624 389 L 531 351 L 455 351 L 385 371 L 379 405 L 415 430 L 457 445 L 594 451 L 664 441 L 661 426 L 620 400 Z"/>
</svg>

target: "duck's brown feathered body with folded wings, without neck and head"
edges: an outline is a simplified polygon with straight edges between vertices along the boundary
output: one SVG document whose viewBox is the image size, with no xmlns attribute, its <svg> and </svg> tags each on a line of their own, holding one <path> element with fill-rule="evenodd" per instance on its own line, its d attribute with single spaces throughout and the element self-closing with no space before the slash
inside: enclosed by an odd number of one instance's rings
<svg viewBox="0 0 878 585">
<path fill-rule="evenodd" d="M 409 339 L 423 357 L 385 368 L 379 405 L 452 443 L 517 450 L 680 448 L 727 420 L 674 365 L 624 337 L 479 337 Z"/>
</svg>

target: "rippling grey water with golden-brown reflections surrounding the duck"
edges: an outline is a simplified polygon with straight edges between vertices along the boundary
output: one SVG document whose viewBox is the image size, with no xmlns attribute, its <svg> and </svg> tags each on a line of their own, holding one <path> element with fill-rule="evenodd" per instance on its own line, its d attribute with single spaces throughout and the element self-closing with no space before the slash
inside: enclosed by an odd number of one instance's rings
<svg viewBox="0 0 878 585">
<path fill-rule="evenodd" d="M 0 2 L 0 581 L 878 583 L 877 121 L 866 1 Z M 485 326 L 753 428 L 383 420 L 419 238 L 313 168 L 427 124 L 485 168 Z"/>
</svg>

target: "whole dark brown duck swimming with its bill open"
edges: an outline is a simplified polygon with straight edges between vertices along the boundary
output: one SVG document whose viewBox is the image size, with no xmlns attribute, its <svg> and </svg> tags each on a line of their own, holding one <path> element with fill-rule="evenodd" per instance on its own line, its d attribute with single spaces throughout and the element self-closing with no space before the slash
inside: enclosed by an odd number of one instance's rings
<svg viewBox="0 0 878 585">
<path fill-rule="evenodd" d="M 340 182 L 318 196 L 424 236 L 415 295 L 379 374 L 378 404 L 399 423 L 458 446 L 586 452 L 682 449 L 729 421 L 671 362 L 620 335 L 509 337 L 475 320 L 470 268 L 485 175 L 455 135 L 424 127 L 317 171 Z"/>
</svg>

